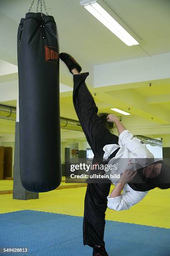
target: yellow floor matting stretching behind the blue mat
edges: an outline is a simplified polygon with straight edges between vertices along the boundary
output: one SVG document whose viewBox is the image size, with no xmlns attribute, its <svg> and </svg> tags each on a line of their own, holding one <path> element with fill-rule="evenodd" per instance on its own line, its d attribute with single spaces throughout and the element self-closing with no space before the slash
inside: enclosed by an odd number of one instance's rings
<svg viewBox="0 0 170 256">
<path fill-rule="evenodd" d="M 65 184 L 65 183 L 64 183 Z M 0 195 L 0 213 L 37 210 L 83 216 L 85 187 L 59 189 L 40 193 L 39 199 L 13 200 L 13 195 Z M 130 210 L 107 209 L 106 219 L 160 228 L 170 228 L 170 189 L 153 189 Z"/>
</svg>

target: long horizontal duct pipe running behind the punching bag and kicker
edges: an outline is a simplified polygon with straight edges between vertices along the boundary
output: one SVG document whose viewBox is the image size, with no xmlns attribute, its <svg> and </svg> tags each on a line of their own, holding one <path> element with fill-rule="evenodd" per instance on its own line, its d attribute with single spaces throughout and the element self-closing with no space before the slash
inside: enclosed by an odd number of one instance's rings
<svg viewBox="0 0 170 256">
<path fill-rule="evenodd" d="M 0 118 L 16 121 L 16 113 L 17 111 L 15 107 L 0 105 Z M 79 121 L 62 117 L 60 117 L 60 128 L 73 131 L 82 131 Z M 145 144 L 162 146 L 162 141 L 154 138 L 148 138 L 141 135 L 135 135 L 134 137 L 139 138 Z"/>
</svg>

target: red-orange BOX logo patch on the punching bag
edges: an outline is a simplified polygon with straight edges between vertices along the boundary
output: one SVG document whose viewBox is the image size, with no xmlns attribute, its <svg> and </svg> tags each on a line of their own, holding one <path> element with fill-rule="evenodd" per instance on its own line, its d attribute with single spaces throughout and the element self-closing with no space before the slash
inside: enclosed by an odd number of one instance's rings
<svg viewBox="0 0 170 256">
<path fill-rule="evenodd" d="M 59 65 L 58 48 L 45 45 L 45 61 Z"/>
</svg>

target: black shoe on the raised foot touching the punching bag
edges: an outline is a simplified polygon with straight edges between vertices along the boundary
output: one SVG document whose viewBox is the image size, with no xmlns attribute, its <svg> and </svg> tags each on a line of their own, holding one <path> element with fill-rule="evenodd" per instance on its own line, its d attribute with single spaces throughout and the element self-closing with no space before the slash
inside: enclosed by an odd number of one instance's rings
<svg viewBox="0 0 170 256">
<path fill-rule="evenodd" d="M 82 67 L 77 63 L 77 61 L 70 54 L 62 52 L 60 53 L 60 59 L 64 61 L 64 63 L 67 65 L 70 72 L 74 68 L 76 68 L 78 72 L 81 72 Z"/>
</svg>

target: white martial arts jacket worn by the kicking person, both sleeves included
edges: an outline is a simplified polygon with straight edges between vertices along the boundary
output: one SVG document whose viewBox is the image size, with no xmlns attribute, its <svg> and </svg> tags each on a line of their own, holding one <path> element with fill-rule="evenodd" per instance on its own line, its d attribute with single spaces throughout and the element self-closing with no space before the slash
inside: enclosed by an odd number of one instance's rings
<svg viewBox="0 0 170 256">
<path fill-rule="evenodd" d="M 152 162 L 154 161 L 154 156 L 146 148 L 146 145 L 138 138 L 135 138 L 128 130 L 120 133 L 118 143 L 119 145 L 108 144 L 103 147 L 103 151 L 105 151 L 103 156 L 104 161 L 110 156 L 110 154 L 112 154 L 112 152 L 120 147 L 120 150 L 117 152 L 115 157 L 108 162 L 108 164 L 112 165 L 117 164 L 117 170 L 110 170 L 106 174 L 115 174 L 116 172 L 121 173 L 125 172 L 127 169 L 138 169 L 138 164 L 140 167 L 141 165 L 145 167 L 151 164 L 151 160 Z M 138 163 L 136 162 L 136 159 L 139 159 Z M 142 164 L 140 163 L 141 159 L 145 159 L 142 160 Z M 112 181 L 112 183 L 116 185 L 116 182 Z M 130 207 L 140 202 L 147 193 L 148 191 L 135 191 L 128 184 L 125 184 L 123 193 L 120 196 L 110 198 L 110 195 L 108 195 L 107 207 L 116 211 L 128 210 Z"/>
</svg>

